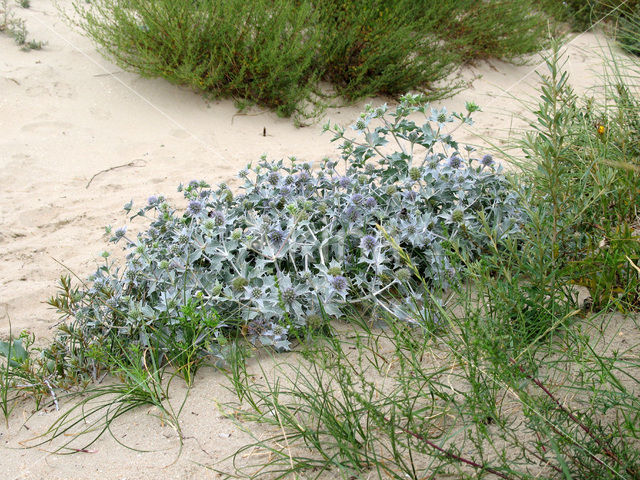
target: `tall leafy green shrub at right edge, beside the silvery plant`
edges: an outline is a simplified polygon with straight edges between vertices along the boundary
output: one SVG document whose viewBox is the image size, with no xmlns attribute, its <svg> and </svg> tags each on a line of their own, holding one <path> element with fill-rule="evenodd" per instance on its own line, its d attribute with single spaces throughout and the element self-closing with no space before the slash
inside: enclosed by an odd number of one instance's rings
<svg viewBox="0 0 640 480">
<path fill-rule="evenodd" d="M 547 261 L 561 284 L 587 287 L 595 309 L 640 306 L 640 103 L 621 78 L 610 104 L 579 99 L 548 62 L 534 133 L 522 144 L 531 207 L 546 232 Z M 545 220 L 546 219 L 546 220 Z M 544 222 L 547 225 L 544 225 Z"/>
</svg>

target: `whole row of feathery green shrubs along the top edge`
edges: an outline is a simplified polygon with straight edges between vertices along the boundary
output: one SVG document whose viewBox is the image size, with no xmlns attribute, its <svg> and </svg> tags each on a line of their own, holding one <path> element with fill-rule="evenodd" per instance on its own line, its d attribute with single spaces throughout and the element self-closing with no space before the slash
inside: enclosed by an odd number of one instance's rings
<svg viewBox="0 0 640 480">
<path fill-rule="evenodd" d="M 545 44 L 547 18 L 533 2 L 478 5 L 380 0 L 99 0 L 74 3 L 80 26 L 111 59 L 215 97 L 254 102 L 289 116 L 338 95 L 443 96 L 458 65 L 512 58 Z"/>
</svg>

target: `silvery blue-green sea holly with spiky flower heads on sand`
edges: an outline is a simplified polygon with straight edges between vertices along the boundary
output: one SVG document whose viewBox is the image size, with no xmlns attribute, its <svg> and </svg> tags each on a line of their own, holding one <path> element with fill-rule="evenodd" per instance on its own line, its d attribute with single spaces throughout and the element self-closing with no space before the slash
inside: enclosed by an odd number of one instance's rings
<svg viewBox="0 0 640 480">
<path fill-rule="evenodd" d="M 136 238 L 125 228 L 112 234 L 126 242 L 126 265 L 98 269 L 76 318 L 93 335 L 116 332 L 144 344 L 153 329 L 180 337 L 181 309 L 196 299 L 224 319 L 215 336 L 241 329 L 278 350 L 289 348 L 293 331 L 346 305 L 373 302 L 412 321 L 408 306 L 423 289 L 388 236 L 436 290 L 455 272 L 450 245 L 476 257 L 489 235 L 513 234 L 520 219 L 517 195 L 491 157 L 472 157 L 471 148 L 463 157 L 441 133 L 455 119 L 470 123 L 477 107 L 450 115 L 420 100 L 405 96 L 391 112 L 368 106 L 353 127 L 356 139 L 327 125 L 344 165 L 262 158 L 240 172 L 236 194 L 192 181 L 179 187 L 184 212 L 149 198 L 134 215 L 148 218 L 149 228 Z M 416 114 L 423 123 L 410 118 Z"/>
</svg>

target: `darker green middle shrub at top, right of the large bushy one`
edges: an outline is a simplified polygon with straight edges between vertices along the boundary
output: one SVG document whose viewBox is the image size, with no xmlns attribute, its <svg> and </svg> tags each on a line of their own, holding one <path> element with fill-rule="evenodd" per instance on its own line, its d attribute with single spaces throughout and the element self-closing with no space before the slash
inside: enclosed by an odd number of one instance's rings
<svg viewBox="0 0 640 480">
<path fill-rule="evenodd" d="M 381 0 L 316 3 L 322 48 L 323 78 L 351 100 L 367 95 L 398 95 L 444 79 L 459 55 L 435 34 L 441 16 L 433 2 Z M 420 3 L 420 2 L 418 2 Z M 454 91 L 452 84 L 434 96 Z"/>
</svg>

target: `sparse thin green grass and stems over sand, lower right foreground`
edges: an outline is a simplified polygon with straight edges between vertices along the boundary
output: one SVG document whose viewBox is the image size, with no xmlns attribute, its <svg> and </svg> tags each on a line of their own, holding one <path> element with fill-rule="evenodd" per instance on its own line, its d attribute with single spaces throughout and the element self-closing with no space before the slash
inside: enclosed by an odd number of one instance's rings
<svg viewBox="0 0 640 480">
<path fill-rule="evenodd" d="M 229 375 L 239 402 L 223 408 L 247 433 L 262 428 L 224 473 L 638 478 L 640 365 L 629 361 L 637 344 L 619 352 L 602 333 L 567 331 L 559 344 L 529 344 L 510 356 L 485 316 L 491 307 L 465 297 L 457 313 L 441 310 L 453 328 L 437 342 L 426 323 L 385 317 L 371 328 L 354 314 L 355 332 L 332 329 L 300 357 L 274 359 L 273 369 L 240 352 Z M 567 365 L 583 373 L 567 375 Z"/>
</svg>

